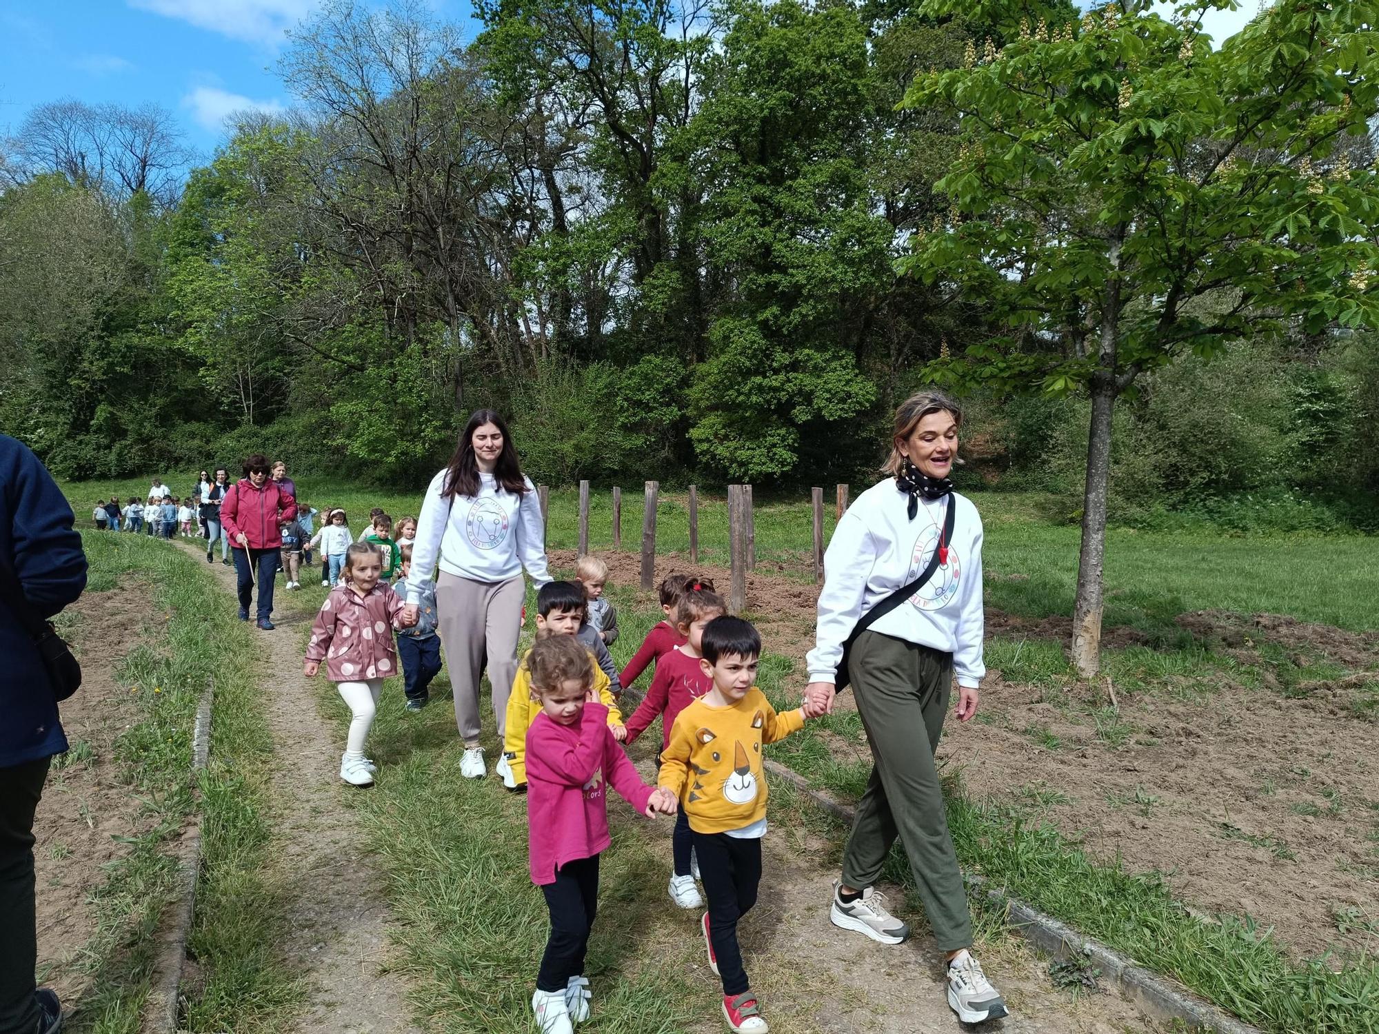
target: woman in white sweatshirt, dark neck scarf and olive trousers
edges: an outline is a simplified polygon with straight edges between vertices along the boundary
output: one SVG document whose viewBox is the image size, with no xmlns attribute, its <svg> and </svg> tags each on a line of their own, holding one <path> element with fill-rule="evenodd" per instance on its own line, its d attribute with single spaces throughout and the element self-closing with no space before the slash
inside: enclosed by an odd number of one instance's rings
<svg viewBox="0 0 1379 1034">
<path fill-rule="evenodd" d="M 865 615 L 881 608 L 847 653 L 876 764 L 858 802 L 829 918 L 883 944 L 910 935 L 873 891 L 899 835 L 934 939 L 947 957 L 949 1005 L 964 1023 L 980 1023 L 1007 1009 L 968 950 L 972 918 L 934 762 L 954 673 L 958 721 L 976 714 L 978 684 L 986 674 L 982 518 L 949 480 L 961 422 L 957 404 L 938 392 L 920 393 L 896 411 L 889 477 L 858 496 L 825 556 L 805 699 L 808 713 L 833 710 L 844 644 Z M 900 591 L 925 572 L 918 589 Z M 891 609 L 884 607 L 888 598 Z"/>
</svg>

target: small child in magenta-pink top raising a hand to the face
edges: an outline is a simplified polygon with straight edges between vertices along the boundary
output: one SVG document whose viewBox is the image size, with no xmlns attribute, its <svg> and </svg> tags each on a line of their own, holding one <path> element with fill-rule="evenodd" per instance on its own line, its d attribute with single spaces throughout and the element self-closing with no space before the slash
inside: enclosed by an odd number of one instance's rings
<svg viewBox="0 0 1379 1034">
<path fill-rule="evenodd" d="M 589 1017 L 585 950 L 598 907 L 598 855 L 610 842 L 607 787 L 647 818 L 674 815 L 676 798 L 643 783 L 614 739 L 579 640 L 538 640 L 525 663 L 542 707 L 527 731 L 531 880 L 550 910 L 531 1008 L 542 1034 L 572 1034 Z"/>
</svg>

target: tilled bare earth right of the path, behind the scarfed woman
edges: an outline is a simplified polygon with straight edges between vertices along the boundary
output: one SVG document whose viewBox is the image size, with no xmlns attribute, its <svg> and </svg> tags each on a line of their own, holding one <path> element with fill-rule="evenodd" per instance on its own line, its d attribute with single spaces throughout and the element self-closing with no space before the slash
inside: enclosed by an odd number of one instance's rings
<svg viewBox="0 0 1379 1034">
<path fill-rule="evenodd" d="M 600 553 L 611 580 L 636 586 L 640 560 Z M 557 565 L 574 554 L 554 553 Z M 656 579 L 691 571 L 725 590 L 729 572 L 656 557 Z M 747 609 L 767 648 L 800 663 L 814 645 L 816 589 L 768 574 L 747 578 Z M 1379 951 L 1379 722 L 1350 706 L 1353 688 L 1379 680 L 1379 633 L 1351 633 L 1280 615 L 1205 611 L 1179 618 L 1204 644 L 1244 663 L 1255 647 L 1321 655 L 1353 674 L 1305 682 L 1295 695 L 1248 688 L 1218 671 L 1178 692 L 1049 691 L 989 673 L 983 721 L 950 721 L 939 749 L 978 797 L 1030 807 L 1091 856 L 1158 870 L 1202 913 L 1249 913 L 1296 957 Z M 992 634 L 1065 645 L 1071 622 L 987 611 Z M 1103 645 L 1143 645 L 1107 629 Z M 852 706 L 851 693 L 838 698 Z M 1100 725 L 1098 725 L 1100 722 Z M 1056 738 L 1058 746 L 1043 733 Z M 865 743 L 836 742 L 840 757 Z M 1338 924 L 1338 917 L 1349 921 Z M 1340 929 L 1345 926 L 1345 932 Z"/>
</svg>

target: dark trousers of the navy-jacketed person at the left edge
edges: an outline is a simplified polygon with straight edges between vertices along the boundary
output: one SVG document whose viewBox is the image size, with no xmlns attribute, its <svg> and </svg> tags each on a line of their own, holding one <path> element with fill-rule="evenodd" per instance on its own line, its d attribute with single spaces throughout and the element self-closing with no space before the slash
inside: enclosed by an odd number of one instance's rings
<svg viewBox="0 0 1379 1034">
<path fill-rule="evenodd" d="M 51 758 L 0 768 L 0 1034 L 33 1034 L 33 813 Z"/>
</svg>

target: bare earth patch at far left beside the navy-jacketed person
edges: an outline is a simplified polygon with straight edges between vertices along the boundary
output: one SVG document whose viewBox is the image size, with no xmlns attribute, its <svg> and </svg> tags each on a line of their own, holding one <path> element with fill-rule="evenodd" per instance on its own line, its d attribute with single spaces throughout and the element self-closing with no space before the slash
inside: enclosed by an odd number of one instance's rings
<svg viewBox="0 0 1379 1034">
<path fill-rule="evenodd" d="M 139 587 L 128 586 L 121 598 L 139 598 Z M 74 619 L 68 634 L 83 678 L 61 704 L 73 749 L 55 757 L 48 771 L 33 822 L 33 858 L 40 976 L 63 1002 L 79 1005 L 91 979 L 83 950 L 97 932 L 88 895 L 105 882 L 103 867 L 128 852 L 124 838 L 146 833 L 152 819 L 119 780 L 113 758 L 131 711 L 128 691 L 112 673 L 139 641 L 143 612 L 121 605 L 113 593 L 87 593 L 66 614 Z"/>
</svg>

